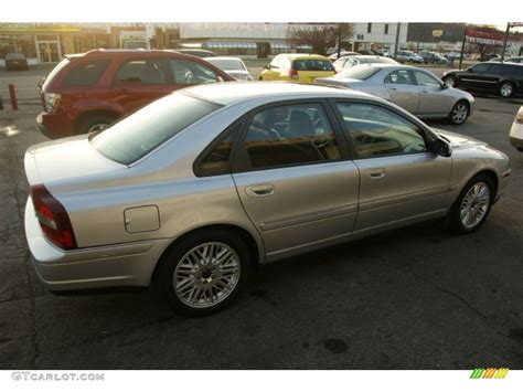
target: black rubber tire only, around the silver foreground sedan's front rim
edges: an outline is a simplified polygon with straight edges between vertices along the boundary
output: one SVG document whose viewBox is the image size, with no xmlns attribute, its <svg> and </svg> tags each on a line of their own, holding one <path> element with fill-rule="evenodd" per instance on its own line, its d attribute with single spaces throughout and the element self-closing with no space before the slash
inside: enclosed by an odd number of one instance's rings
<svg viewBox="0 0 523 392">
<path fill-rule="evenodd" d="M 461 205 L 463 203 L 463 199 L 466 198 L 467 193 L 477 184 L 485 184 L 489 189 L 489 203 L 487 205 L 487 211 L 481 220 L 473 224 L 472 226 L 466 226 L 461 220 Z M 448 222 L 450 232 L 453 234 L 468 234 L 477 231 L 481 225 L 484 223 L 487 218 L 489 216 L 490 209 L 492 206 L 492 202 L 495 197 L 495 188 L 492 183 L 492 179 L 488 174 L 477 174 L 474 176 L 467 184 L 463 187 L 461 192 L 456 199 L 452 208 L 450 209 Z"/>
</svg>

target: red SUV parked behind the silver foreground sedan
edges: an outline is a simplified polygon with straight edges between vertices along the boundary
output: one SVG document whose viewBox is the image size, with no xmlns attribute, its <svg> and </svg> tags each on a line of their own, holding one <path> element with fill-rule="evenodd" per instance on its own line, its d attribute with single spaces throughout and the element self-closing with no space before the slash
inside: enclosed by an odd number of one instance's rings
<svg viewBox="0 0 523 392">
<path fill-rule="evenodd" d="M 175 89 L 234 81 L 202 59 L 170 51 L 95 50 L 67 55 L 41 87 L 36 117 L 50 138 L 105 128 Z"/>
</svg>

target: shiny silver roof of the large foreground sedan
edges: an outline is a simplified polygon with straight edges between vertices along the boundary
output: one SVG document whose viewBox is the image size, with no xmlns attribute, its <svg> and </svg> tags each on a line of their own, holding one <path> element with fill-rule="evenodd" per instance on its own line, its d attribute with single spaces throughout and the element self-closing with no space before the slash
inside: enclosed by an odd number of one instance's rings
<svg viewBox="0 0 523 392">
<path fill-rule="evenodd" d="M 318 97 L 369 97 L 378 99 L 353 89 L 291 82 L 211 83 L 184 88 L 182 92 L 225 106 L 270 97 L 275 97 L 275 100 Z"/>
</svg>

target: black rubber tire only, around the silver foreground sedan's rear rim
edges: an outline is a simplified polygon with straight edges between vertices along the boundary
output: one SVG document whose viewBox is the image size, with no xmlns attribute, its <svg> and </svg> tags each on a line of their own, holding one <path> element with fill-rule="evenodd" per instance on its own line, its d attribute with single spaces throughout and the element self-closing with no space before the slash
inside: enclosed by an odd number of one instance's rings
<svg viewBox="0 0 523 392">
<path fill-rule="evenodd" d="M 236 253 L 237 262 L 239 265 L 239 276 L 232 292 L 228 292 L 225 295 L 224 299 L 220 300 L 217 304 L 207 307 L 190 306 L 178 296 L 174 289 L 173 275 L 177 266 L 183 261 L 184 256 L 188 253 L 190 253 L 195 247 L 202 246 L 203 244 L 207 243 L 225 244 Z M 252 255 L 248 250 L 248 246 L 241 239 L 241 236 L 234 235 L 234 233 L 231 233 L 226 230 L 212 229 L 198 231 L 186 237 L 181 239 L 180 242 L 175 243 L 174 246 L 171 247 L 162 258 L 156 278 L 158 287 L 160 288 L 161 293 L 164 295 L 164 297 L 169 301 L 169 305 L 174 311 L 186 316 L 202 317 L 211 315 L 230 306 L 237 298 L 239 292 L 245 286 L 246 282 L 249 278 L 250 272 Z M 195 275 L 198 273 L 199 272 L 192 274 Z M 191 277 L 193 275 L 191 275 Z M 210 277 L 207 276 L 207 278 Z M 203 272 L 200 272 L 200 279 L 202 279 L 202 282 L 199 282 L 199 284 L 203 284 Z M 209 285 L 210 283 L 206 284 Z"/>
</svg>

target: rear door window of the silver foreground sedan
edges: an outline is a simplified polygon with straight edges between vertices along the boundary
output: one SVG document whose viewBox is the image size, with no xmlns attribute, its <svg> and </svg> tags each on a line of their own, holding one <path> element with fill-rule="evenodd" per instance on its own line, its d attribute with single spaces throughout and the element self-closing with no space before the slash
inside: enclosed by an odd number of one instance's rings
<svg viewBox="0 0 523 392">
<path fill-rule="evenodd" d="M 313 103 L 277 106 L 257 113 L 244 146 L 255 169 L 341 158 L 323 107 Z"/>
</svg>

